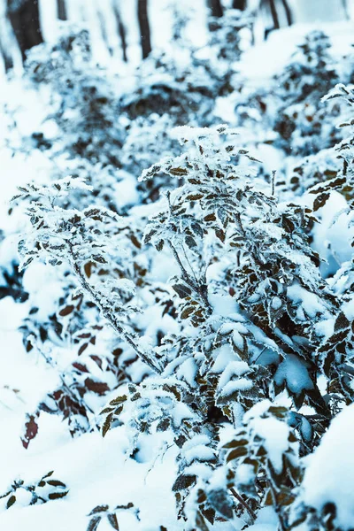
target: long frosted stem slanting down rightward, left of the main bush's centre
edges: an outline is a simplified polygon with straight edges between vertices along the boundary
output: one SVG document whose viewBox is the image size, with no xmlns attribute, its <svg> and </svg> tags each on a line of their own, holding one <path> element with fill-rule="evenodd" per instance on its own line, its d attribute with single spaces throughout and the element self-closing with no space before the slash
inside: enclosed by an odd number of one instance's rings
<svg viewBox="0 0 354 531">
<path fill-rule="evenodd" d="M 70 251 L 71 251 L 72 258 L 73 258 L 73 250 L 70 249 Z M 135 342 L 134 336 L 129 334 L 129 332 L 127 332 L 127 330 L 125 330 L 119 324 L 118 320 L 115 319 L 115 317 L 112 314 L 111 308 L 101 303 L 101 301 L 97 297 L 95 289 L 93 289 L 92 286 L 90 286 L 89 282 L 85 279 L 81 271 L 81 267 L 77 264 L 77 262 L 74 259 L 72 259 L 72 266 L 73 266 L 73 273 L 75 273 L 75 275 L 78 277 L 79 281 L 81 282 L 81 287 L 87 292 L 87 294 L 92 299 L 92 301 L 100 309 L 105 319 L 107 319 L 110 322 L 110 324 L 112 325 L 113 329 L 117 332 L 117 334 L 120 335 L 120 337 L 122 337 L 135 350 L 139 358 L 141 358 L 142 361 L 146 363 L 147 366 L 150 366 L 150 369 L 154 373 L 161 374 L 162 373 L 161 367 L 155 365 L 153 361 L 149 358 L 149 356 L 146 354 L 146 352 L 144 352 L 138 347 L 138 345 Z"/>
</svg>

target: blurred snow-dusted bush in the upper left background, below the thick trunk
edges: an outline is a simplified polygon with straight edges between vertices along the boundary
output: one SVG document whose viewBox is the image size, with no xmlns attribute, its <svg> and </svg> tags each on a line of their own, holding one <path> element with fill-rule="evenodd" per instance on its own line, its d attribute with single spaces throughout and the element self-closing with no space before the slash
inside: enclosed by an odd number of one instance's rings
<svg viewBox="0 0 354 531">
<path fill-rule="evenodd" d="M 64 27 L 54 45 L 31 50 L 25 67 L 27 79 L 35 86 L 48 85 L 50 119 L 60 131 L 56 150 L 64 151 L 66 157 L 119 166 L 124 132 L 117 119 L 118 81 L 93 62 L 89 32 Z"/>
</svg>

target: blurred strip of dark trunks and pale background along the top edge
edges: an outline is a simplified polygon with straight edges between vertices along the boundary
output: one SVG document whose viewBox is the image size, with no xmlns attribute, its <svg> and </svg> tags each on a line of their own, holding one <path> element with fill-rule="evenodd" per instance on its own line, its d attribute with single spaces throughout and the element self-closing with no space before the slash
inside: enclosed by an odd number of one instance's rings
<svg viewBox="0 0 354 531">
<path fill-rule="evenodd" d="M 175 38 L 173 5 L 166 0 L 1 0 L 0 69 L 20 68 L 27 50 L 55 41 L 63 20 L 89 26 L 99 62 L 112 58 L 136 63 Z M 212 29 L 209 10 L 216 18 L 230 8 L 255 13 L 253 42 L 280 27 L 349 20 L 354 12 L 352 0 L 184 0 L 179 5 L 189 19 L 187 35 L 196 45 L 206 43 Z"/>
</svg>

